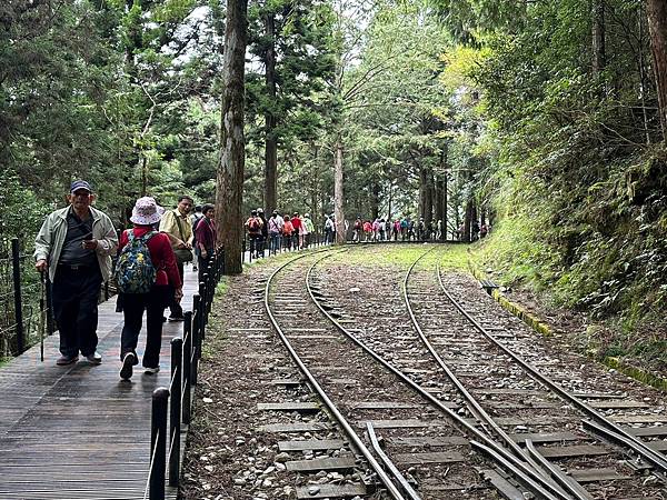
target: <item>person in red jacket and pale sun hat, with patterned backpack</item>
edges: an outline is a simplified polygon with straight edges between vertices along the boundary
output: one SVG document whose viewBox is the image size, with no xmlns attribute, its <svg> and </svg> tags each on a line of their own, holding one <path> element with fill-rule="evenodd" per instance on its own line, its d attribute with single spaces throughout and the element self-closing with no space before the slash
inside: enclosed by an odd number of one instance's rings
<svg viewBox="0 0 667 500">
<path fill-rule="evenodd" d="M 137 200 L 130 221 L 122 232 L 116 263 L 116 281 L 123 294 L 125 324 L 120 336 L 120 378 L 129 380 L 139 363 L 137 343 L 146 311 L 146 350 L 141 364 L 147 374 L 160 371 L 162 314 L 172 299 L 183 296 L 176 254 L 170 239 L 153 229 L 165 209 L 151 197 Z"/>
</svg>

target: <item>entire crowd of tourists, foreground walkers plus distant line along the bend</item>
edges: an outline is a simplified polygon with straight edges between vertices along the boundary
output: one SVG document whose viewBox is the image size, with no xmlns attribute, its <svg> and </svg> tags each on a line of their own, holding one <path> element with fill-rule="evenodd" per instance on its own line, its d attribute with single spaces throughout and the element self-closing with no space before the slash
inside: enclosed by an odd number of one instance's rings
<svg viewBox="0 0 667 500">
<path fill-rule="evenodd" d="M 48 273 L 51 282 L 53 316 L 60 331 L 58 366 L 68 366 L 81 354 L 89 363 L 102 361 L 98 352 L 98 294 L 102 282 L 112 274 L 118 286 L 117 310 L 123 313 L 120 334 L 120 378 L 129 380 L 139 363 L 137 344 L 147 317 L 145 373 L 160 369 L 162 323 L 182 321 L 183 267 L 193 262 L 201 272 L 215 251 L 217 227 L 212 204 L 195 207 L 192 198 L 181 196 L 175 209 L 165 210 L 151 197 L 137 200 L 132 227 L 118 236 L 111 219 L 92 207 L 90 184 L 78 180 L 70 186 L 69 204 L 47 216 L 34 241 L 36 268 Z M 249 250 L 253 257 L 265 252 L 308 248 L 316 234 L 309 213 L 281 214 L 273 210 L 267 218 L 261 208 L 252 210 L 245 222 Z M 321 226 L 325 243 L 336 241 L 336 220 L 326 216 Z M 345 230 L 349 226 L 346 221 Z M 352 240 L 425 241 L 441 236 L 442 222 L 417 222 L 409 217 L 395 220 L 357 218 Z M 459 234 L 465 228 L 459 228 Z M 472 239 L 484 238 L 490 227 L 474 222 Z M 116 266 L 112 264 L 112 257 Z M 169 308 L 170 316 L 165 318 Z"/>
</svg>

